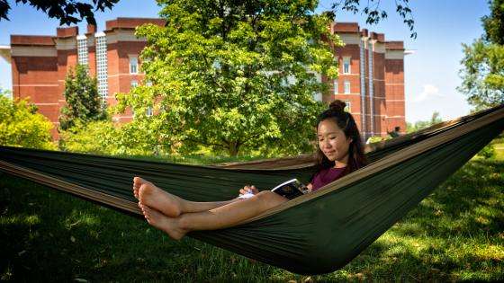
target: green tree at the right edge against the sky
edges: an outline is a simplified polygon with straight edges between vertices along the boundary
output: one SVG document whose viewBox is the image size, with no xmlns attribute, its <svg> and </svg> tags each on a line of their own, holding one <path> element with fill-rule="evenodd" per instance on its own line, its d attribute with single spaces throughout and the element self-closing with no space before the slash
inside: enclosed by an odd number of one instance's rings
<svg viewBox="0 0 504 283">
<path fill-rule="evenodd" d="M 463 44 L 457 88 L 476 111 L 504 103 L 504 0 L 490 2 L 491 14 L 482 17 L 485 34 L 471 46 Z"/>
</svg>

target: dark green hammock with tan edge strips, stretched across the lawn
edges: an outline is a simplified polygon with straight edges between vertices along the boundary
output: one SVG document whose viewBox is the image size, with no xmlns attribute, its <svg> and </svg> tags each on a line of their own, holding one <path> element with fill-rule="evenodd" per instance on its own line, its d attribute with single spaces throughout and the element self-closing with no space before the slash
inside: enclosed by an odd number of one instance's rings
<svg viewBox="0 0 504 283">
<path fill-rule="evenodd" d="M 345 266 L 504 130 L 504 105 L 371 145 L 372 164 L 238 226 L 187 234 L 299 274 Z M 311 155 L 194 166 L 0 146 L 0 171 L 140 215 L 139 175 L 184 199 L 235 198 L 238 188 L 308 181 Z"/>
</svg>

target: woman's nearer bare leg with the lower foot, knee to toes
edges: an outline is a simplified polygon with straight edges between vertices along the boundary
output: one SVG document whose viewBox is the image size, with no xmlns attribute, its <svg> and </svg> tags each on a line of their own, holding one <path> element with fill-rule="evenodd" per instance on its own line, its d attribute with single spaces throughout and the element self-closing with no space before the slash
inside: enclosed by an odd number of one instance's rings
<svg viewBox="0 0 504 283">
<path fill-rule="evenodd" d="M 266 190 L 248 199 L 230 202 L 208 211 L 182 213 L 178 217 L 168 217 L 148 205 L 140 205 L 140 208 L 142 208 L 148 224 L 164 231 L 175 240 L 179 240 L 190 231 L 216 230 L 238 225 L 242 221 L 256 217 L 287 200 L 275 192 Z"/>
</svg>

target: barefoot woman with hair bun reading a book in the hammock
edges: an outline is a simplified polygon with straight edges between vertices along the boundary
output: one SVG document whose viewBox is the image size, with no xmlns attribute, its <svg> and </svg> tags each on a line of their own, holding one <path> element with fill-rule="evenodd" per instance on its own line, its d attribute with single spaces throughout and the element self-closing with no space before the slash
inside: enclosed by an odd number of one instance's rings
<svg viewBox="0 0 504 283">
<path fill-rule="evenodd" d="M 345 102 L 335 101 L 317 119 L 320 170 L 311 177 L 308 188 L 318 190 L 329 182 L 365 166 L 364 146 L 356 121 L 346 111 Z M 252 192 L 247 199 L 218 202 L 194 202 L 181 199 L 142 178 L 133 179 L 133 194 L 148 224 L 164 231 L 175 240 L 194 230 L 215 230 L 235 226 L 243 220 L 288 201 L 270 190 L 258 191 L 245 186 L 241 194 Z"/>
</svg>

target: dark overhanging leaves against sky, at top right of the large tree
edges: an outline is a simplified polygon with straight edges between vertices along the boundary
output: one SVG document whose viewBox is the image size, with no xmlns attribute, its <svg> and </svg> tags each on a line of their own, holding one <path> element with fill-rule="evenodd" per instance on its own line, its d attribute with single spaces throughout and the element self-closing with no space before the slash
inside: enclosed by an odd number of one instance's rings
<svg viewBox="0 0 504 283">
<path fill-rule="evenodd" d="M 380 8 L 380 0 L 365 1 L 365 3 L 365 7 L 362 10 L 362 13 L 365 13 L 367 15 L 365 23 L 374 24 L 387 18 L 388 13 Z M 411 13 L 409 0 L 396 0 L 395 4 L 396 13 L 399 13 L 401 18 L 403 19 L 402 22 L 404 22 L 410 28 L 410 37 L 416 39 L 417 32 L 413 31 L 415 21 L 413 20 L 413 14 Z M 335 11 L 335 13 L 338 13 L 338 9 L 358 13 L 360 6 L 360 0 L 335 0 L 335 2 L 332 4 L 332 9 L 333 11 Z"/>
</svg>

